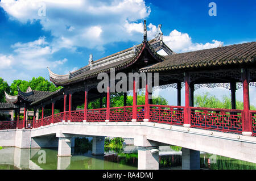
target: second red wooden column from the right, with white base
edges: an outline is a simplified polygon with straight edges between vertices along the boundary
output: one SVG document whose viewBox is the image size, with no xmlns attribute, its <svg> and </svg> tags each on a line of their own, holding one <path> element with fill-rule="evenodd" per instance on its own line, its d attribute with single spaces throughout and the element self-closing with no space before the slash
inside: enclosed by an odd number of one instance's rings
<svg viewBox="0 0 256 181">
<path fill-rule="evenodd" d="M 189 128 L 191 126 L 191 115 L 189 108 L 189 74 L 186 72 L 185 75 L 185 108 L 184 108 L 184 127 Z"/>
</svg>

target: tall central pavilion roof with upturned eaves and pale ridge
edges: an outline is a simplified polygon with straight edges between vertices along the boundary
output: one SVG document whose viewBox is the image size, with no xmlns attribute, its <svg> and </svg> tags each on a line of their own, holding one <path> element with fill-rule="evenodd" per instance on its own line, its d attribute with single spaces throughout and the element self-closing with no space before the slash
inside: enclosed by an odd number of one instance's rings
<svg viewBox="0 0 256 181">
<path fill-rule="evenodd" d="M 65 86 L 71 83 L 76 83 L 83 81 L 88 78 L 96 77 L 99 73 L 110 71 L 110 68 L 115 68 L 116 70 L 124 69 L 137 61 L 142 50 L 146 47 L 152 56 L 156 60 L 163 61 L 163 56 L 160 56 L 156 51 L 161 48 L 164 49 L 167 54 L 174 53 L 170 48 L 167 47 L 163 41 L 152 39 L 150 41 L 143 41 L 139 45 L 122 50 L 121 52 L 114 53 L 110 56 L 101 58 L 96 61 L 92 61 L 91 65 L 86 65 L 83 68 L 73 71 L 69 74 L 58 75 L 49 70 L 50 80 L 58 86 Z"/>
</svg>

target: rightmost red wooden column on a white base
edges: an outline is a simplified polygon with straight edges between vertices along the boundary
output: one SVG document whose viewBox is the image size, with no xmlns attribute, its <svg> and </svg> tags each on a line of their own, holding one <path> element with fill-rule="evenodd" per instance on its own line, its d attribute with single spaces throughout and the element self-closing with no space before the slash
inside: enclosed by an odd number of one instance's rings
<svg viewBox="0 0 256 181">
<path fill-rule="evenodd" d="M 249 80 L 246 69 L 242 69 L 243 82 L 243 119 L 242 119 L 242 134 L 244 136 L 251 136 L 252 121 L 250 116 L 250 99 L 249 99 Z"/>
</svg>

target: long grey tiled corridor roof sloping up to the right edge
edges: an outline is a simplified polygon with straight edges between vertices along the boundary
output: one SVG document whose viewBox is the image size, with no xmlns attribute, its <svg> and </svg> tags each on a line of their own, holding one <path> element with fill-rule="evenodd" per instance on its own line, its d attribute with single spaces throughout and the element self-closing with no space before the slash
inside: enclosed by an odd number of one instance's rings
<svg viewBox="0 0 256 181">
<path fill-rule="evenodd" d="M 140 69 L 141 72 L 204 68 L 221 65 L 249 64 L 256 61 L 256 42 L 176 53 L 164 56 L 164 61 Z"/>
</svg>

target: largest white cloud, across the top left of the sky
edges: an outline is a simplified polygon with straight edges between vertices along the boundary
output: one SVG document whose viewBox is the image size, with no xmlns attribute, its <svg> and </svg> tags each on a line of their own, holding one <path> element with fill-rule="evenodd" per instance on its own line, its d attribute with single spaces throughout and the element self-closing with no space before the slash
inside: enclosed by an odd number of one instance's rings
<svg viewBox="0 0 256 181">
<path fill-rule="evenodd" d="M 141 27 L 137 20 L 146 18 L 151 12 L 143 0 L 2 0 L 0 6 L 12 19 L 20 22 L 39 20 L 43 30 L 50 31 L 55 41 L 64 43 L 55 44 L 56 49 L 102 49 L 104 45 L 115 41 L 140 42 L 141 33 L 127 27 Z M 43 8 L 45 16 L 39 13 Z"/>
</svg>

